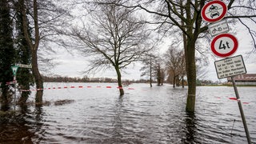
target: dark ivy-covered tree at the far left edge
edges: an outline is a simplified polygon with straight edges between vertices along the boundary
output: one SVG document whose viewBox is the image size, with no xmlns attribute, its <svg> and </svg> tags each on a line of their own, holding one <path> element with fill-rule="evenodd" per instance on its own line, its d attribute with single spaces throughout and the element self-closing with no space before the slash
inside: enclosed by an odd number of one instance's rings
<svg viewBox="0 0 256 144">
<path fill-rule="evenodd" d="M 10 4 L 7 0 L 0 1 L 0 82 L 2 101 L 8 104 L 8 90 L 6 82 L 13 82 L 11 66 L 14 64 L 15 50 L 13 42 L 13 22 L 10 17 Z"/>
</svg>

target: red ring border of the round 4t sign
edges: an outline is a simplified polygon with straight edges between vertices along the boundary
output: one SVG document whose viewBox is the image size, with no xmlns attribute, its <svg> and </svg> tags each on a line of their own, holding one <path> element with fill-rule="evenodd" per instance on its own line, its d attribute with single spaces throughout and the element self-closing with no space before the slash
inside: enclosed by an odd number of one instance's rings
<svg viewBox="0 0 256 144">
<path fill-rule="evenodd" d="M 230 47 L 230 51 L 227 52 L 227 53 L 219 53 L 218 49 L 219 47 L 215 47 L 215 43 L 220 39 L 220 38 L 230 38 L 233 42 L 233 47 Z M 223 42 L 223 44 L 225 45 L 226 43 Z M 221 45 L 221 44 L 220 44 Z M 237 50 L 238 50 L 238 39 L 234 37 L 234 35 L 232 34 L 219 34 L 217 35 L 213 41 L 210 43 L 210 49 L 211 51 L 218 57 L 222 57 L 222 58 L 226 58 L 226 57 L 229 57 L 230 55 L 234 54 Z M 220 49 L 220 48 L 219 48 Z"/>
</svg>

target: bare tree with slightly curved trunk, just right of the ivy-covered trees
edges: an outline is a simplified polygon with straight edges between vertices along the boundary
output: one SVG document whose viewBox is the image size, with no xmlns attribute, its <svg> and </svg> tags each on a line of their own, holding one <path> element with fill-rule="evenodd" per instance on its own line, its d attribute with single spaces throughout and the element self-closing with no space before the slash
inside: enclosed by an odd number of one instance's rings
<svg viewBox="0 0 256 144">
<path fill-rule="evenodd" d="M 40 42 L 52 42 L 56 29 L 64 24 L 61 20 L 66 10 L 60 9 L 52 1 L 45 0 L 19 0 L 20 10 L 22 11 L 22 25 L 26 42 L 30 48 L 32 74 L 34 75 L 37 86 L 36 104 L 42 104 L 43 81 L 38 69 L 38 50 Z M 32 27 L 32 30 L 30 29 Z M 28 31 L 32 31 L 32 35 Z M 49 38 L 51 37 L 51 38 Z M 42 43 L 44 44 L 44 43 Z M 49 47 L 48 47 L 49 48 Z M 50 49 L 48 49 L 50 50 Z M 46 51 L 46 50 L 44 50 Z"/>
</svg>

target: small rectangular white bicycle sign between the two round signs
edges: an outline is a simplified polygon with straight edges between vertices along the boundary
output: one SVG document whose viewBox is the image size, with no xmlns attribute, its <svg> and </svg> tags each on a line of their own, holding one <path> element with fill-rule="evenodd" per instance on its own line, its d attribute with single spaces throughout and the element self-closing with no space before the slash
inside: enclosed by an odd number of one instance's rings
<svg viewBox="0 0 256 144">
<path fill-rule="evenodd" d="M 221 22 L 210 24 L 208 28 L 209 28 L 210 35 L 212 37 L 218 34 L 227 33 L 230 31 L 230 27 L 228 26 L 226 20 L 222 20 Z"/>
</svg>

